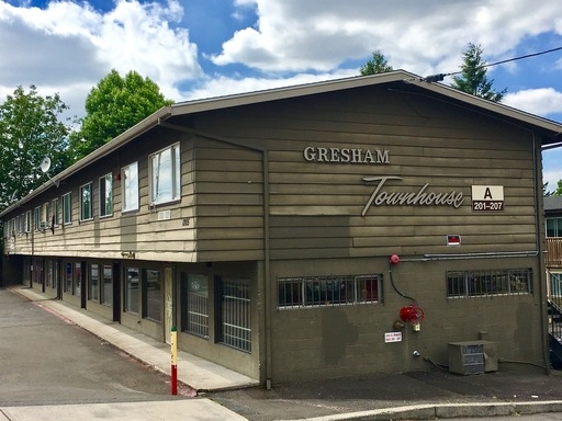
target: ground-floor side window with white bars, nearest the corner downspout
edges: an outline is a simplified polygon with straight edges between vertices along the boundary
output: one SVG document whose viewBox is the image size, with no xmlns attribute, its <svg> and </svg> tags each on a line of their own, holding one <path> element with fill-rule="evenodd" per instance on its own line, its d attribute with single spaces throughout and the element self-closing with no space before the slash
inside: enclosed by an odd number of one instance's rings
<svg viewBox="0 0 562 421">
<path fill-rule="evenodd" d="M 220 282 L 218 342 L 251 351 L 250 282 L 224 277 Z"/>
</svg>

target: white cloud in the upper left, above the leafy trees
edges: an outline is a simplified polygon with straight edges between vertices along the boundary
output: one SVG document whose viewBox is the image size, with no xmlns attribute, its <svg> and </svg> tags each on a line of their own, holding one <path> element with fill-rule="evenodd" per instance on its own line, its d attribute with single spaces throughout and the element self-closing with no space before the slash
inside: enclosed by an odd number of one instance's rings
<svg viewBox="0 0 562 421">
<path fill-rule="evenodd" d="M 81 115 L 89 90 L 116 69 L 136 70 L 178 100 L 178 82 L 203 75 L 188 31 L 170 26 L 182 13 L 176 0 L 119 0 L 105 14 L 88 3 L 50 2 L 42 10 L 0 1 L 0 93 L 35 84 L 40 94 L 61 93 Z"/>
</svg>

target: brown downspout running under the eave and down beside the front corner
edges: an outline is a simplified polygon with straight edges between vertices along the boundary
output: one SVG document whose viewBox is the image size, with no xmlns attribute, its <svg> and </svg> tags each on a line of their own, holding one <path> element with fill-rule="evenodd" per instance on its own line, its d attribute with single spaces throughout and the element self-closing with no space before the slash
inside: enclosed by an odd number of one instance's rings
<svg viewBox="0 0 562 421">
<path fill-rule="evenodd" d="M 206 137 L 209 139 L 222 141 L 228 145 L 235 145 L 241 148 L 255 150 L 258 152 L 261 152 L 262 156 L 262 177 L 263 177 L 263 293 L 265 293 L 265 299 L 263 299 L 263 325 L 266 327 L 266 388 L 268 390 L 271 389 L 271 362 L 272 362 L 272 354 L 271 354 L 271 285 L 270 285 L 270 277 L 271 277 L 271 255 L 270 255 L 270 227 L 269 227 L 269 156 L 268 156 L 268 149 L 260 149 L 256 147 L 251 147 L 248 145 L 241 145 L 235 140 L 232 140 L 225 136 L 215 135 L 202 130 L 198 130 L 194 128 L 189 128 L 184 126 L 180 126 L 177 124 L 168 123 L 164 118 L 158 118 L 158 125 L 161 127 L 167 127 L 173 130 L 189 133 L 191 135 Z"/>
</svg>

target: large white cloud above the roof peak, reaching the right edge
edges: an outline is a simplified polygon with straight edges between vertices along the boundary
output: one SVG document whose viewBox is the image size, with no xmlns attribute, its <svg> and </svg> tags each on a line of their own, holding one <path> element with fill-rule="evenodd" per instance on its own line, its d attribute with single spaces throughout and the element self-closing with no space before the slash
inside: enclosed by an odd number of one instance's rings
<svg viewBox="0 0 562 421">
<path fill-rule="evenodd" d="M 238 0 L 247 5 L 250 0 Z M 259 20 L 213 57 L 267 71 L 327 71 L 380 49 L 395 68 L 454 71 L 469 42 L 509 54 L 526 36 L 562 30 L 562 2 L 529 0 L 255 0 Z M 447 69 L 447 70 L 443 70 Z"/>
</svg>

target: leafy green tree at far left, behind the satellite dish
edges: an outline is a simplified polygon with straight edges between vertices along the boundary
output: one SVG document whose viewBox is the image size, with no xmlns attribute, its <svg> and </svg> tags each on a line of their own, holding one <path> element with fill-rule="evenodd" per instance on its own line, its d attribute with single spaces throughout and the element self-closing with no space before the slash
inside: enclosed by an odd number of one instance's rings
<svg viewBox="0 0 562 421">
<path fill-rule="evenodd" d="M 49 174 L 68 164 L 69 128 L 60 121 L 68 106 L 58 93 L 41 96 L 20 86 L 0 105 L 0 209 L 47 181 L 40 169 L 49 157 Z"/>
</svg>

